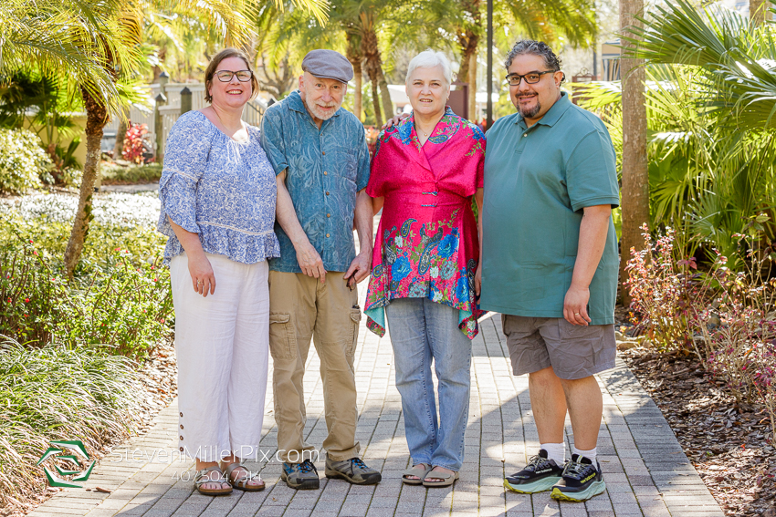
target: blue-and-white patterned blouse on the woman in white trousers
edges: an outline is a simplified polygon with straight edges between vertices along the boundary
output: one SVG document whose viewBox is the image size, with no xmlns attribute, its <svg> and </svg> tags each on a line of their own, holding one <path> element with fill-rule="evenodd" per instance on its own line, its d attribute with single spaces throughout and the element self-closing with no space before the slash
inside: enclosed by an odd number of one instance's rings
<svg viewBox="0 0 776 517">
<path fill-rule="evenodd" d="M 199 233 L 205 253 L 256 264 L 280 255 L 275 225 L 278 197 L 275 171 L 259 143 L 259 129 L 248 126 L 250 139 L 237 142 L 203 113 L 189 111 L 167 137 L 157 230 L 170 239 L 164 263 L 184 253 L 167 220 Z"/>
</svg>

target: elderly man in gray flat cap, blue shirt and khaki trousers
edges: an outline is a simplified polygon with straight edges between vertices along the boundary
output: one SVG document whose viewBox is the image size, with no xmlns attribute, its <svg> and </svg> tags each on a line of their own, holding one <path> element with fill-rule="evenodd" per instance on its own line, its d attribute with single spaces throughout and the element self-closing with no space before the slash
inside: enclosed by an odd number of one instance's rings
<svg viewBox="0 0 776 517">
<path fill-rule="evenodd" d="M 267 109 L 261 131 L 278 182 L 280 258 L 269 262 L 269 350 L 281 477 L 291 488 L 319 488 L 317 454 L 304 439 L 302 381 L 312 339 L 329 431 L 326 477 L 374 484 L 382 476 L 359 458 L 355 440 L 353 375 L 361 320 L 356 283 L 372 262 L 372 201 L 364 191 L 369 150 L 362 123 L 341 108 L 351 63 L 333 50 L 313 50 L 302 69 L 299 90 Z"/>
</svg>

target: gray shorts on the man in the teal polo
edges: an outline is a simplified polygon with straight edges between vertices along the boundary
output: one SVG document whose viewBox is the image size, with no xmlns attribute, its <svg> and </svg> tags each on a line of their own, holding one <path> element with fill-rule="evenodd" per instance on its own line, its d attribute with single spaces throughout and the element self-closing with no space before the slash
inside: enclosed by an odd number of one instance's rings
<svg viewBox="0 0 776 517">
<path fill-rule="evenodd" d="M 501 315 L 515 375 L 552 367 L 566 380 L 614 367 L 613 325 L 572 325 L 561 317 Z"/>
</svg>

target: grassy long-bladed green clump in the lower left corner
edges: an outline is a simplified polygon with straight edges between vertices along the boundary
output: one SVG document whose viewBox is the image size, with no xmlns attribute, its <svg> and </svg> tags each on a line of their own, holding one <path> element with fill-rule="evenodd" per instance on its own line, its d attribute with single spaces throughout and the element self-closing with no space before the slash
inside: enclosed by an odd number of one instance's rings
<svg viewBox="0 0 776 517">
<path fill-rule="evenodd" d="M 145 393 L 134 368 L 97 348 L 0 343 L 0 506 L 42 487 L 50 440 L 79 439 L 91 454 L 133 430 Z"/>
</svg>

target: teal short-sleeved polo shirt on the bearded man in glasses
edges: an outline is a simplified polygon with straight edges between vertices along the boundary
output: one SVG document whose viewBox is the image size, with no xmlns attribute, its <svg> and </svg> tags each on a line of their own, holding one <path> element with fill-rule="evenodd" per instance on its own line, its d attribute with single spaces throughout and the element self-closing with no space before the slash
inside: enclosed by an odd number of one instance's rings
<svg viewBox="0 0 776 517">
<path fill-rule="evenodd" d="M 515 113 L 498 119 L 486 139 L 479 305 L 508 315 L 563 317 L 582 209 L 620 204 L 609 132 L 563 93 L 532 127 Z M 610 216 L 590 284 L 591 325 L 614 323 L 618 269 Z"/>
</svg>

